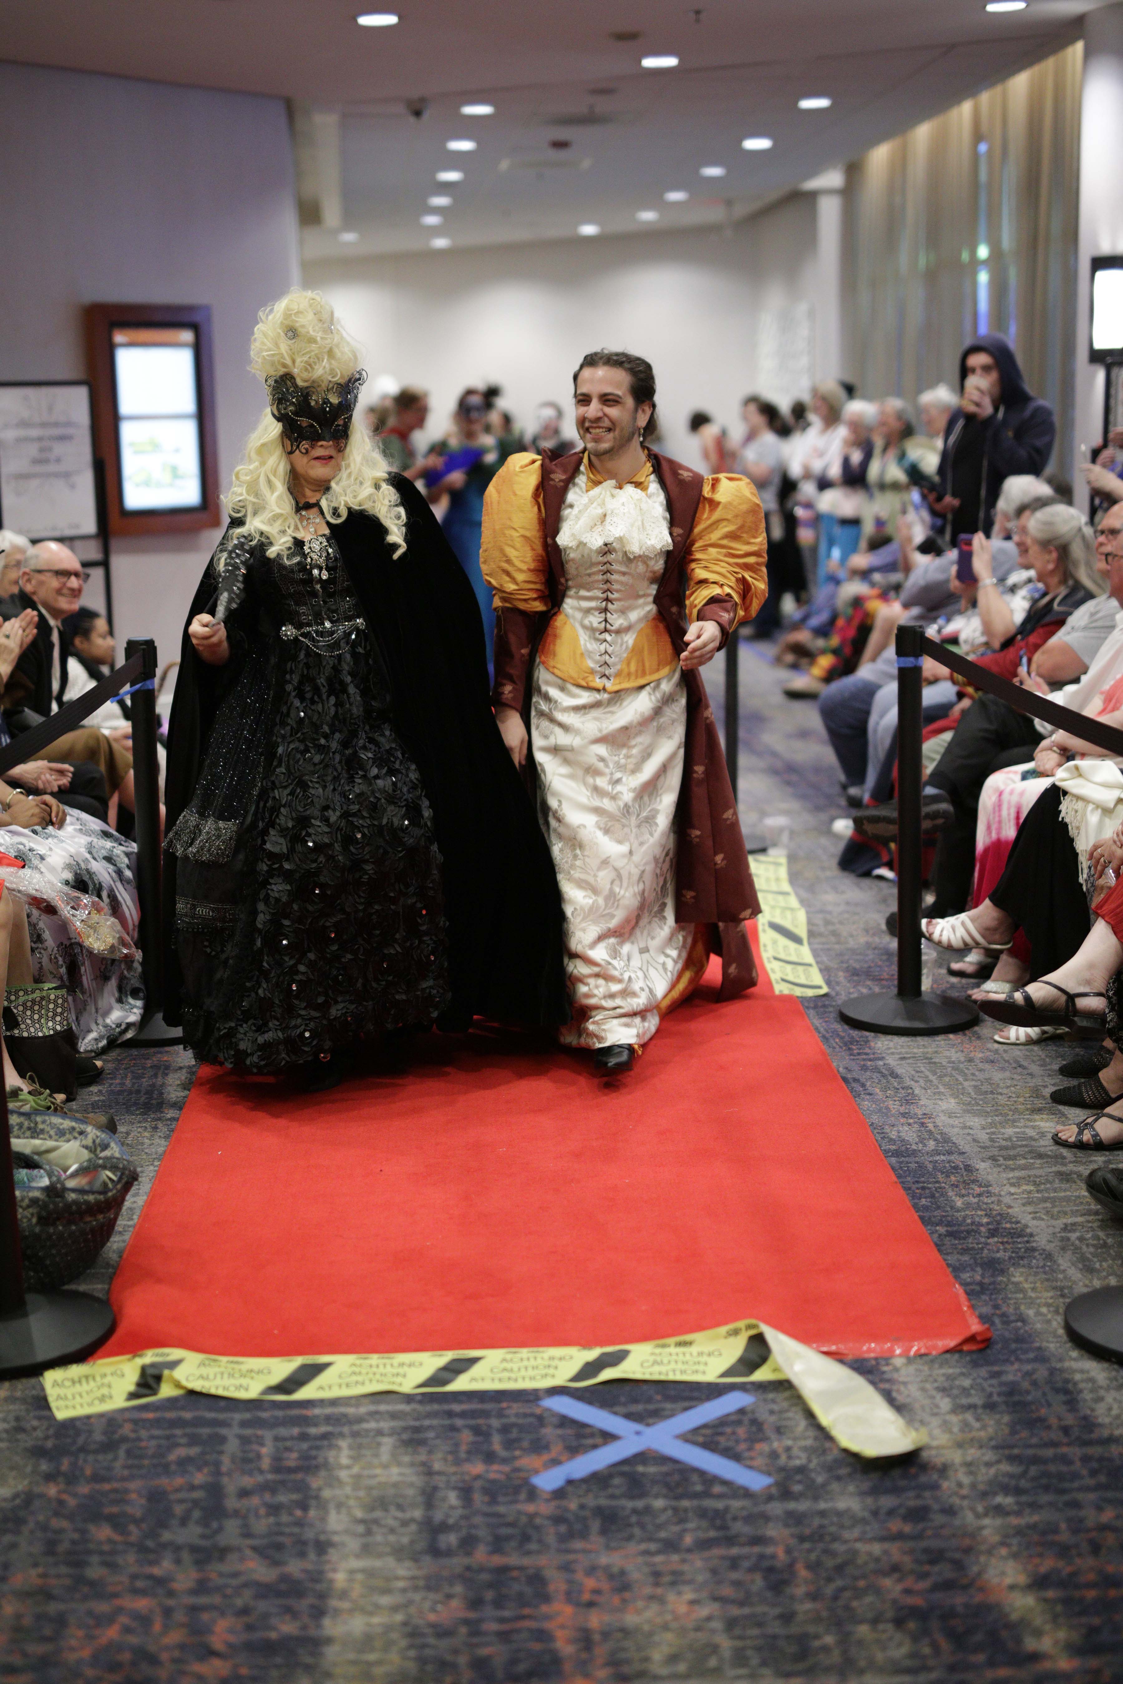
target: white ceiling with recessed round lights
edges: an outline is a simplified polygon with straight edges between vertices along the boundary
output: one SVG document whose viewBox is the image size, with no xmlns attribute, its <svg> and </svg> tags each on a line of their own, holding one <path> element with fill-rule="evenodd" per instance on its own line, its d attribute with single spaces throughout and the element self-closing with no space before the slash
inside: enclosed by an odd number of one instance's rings
<svg viewBox="0 0 1123 1684">
<path fill-rule="evenodd" d="M 397 8 L 392 29 L 355 12 Z M 739 217 L 1014 74 L 1108 0 L 0 0 L 7 59 L 293 101 L 305 256 Z M 615 34 L 638 30 L 635 40 Z M 643 54 L 679 69 L 643 71 Z M 828 111 L 800 111 L 828 94 Z M 428 101 L 423 118 L 407 101 Z M 495 116 L 460 106 L 490 101 Z M 774 140 L 742 152 L 748 135 Z M 453 155 L 446 141 L 476 140 Z M 551 141 L 569 141 L 554 147 Z M 705 180 L 704 165 L 726 175 Z M 443 187 L 441 168 L 465 180 Z M 668 205 L 663 192 L 690 194 Z M 429 212 L 426 197 L 453 205 Z M 658 222 L 636 222 L 638 210 Z M 441 214 L 439 227 L 419 217 Z M 357 232 L 340 244 L 338 232 Z"/>
</svg>

